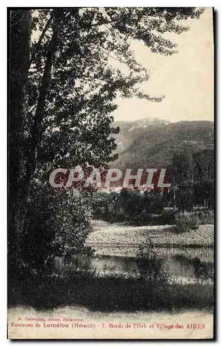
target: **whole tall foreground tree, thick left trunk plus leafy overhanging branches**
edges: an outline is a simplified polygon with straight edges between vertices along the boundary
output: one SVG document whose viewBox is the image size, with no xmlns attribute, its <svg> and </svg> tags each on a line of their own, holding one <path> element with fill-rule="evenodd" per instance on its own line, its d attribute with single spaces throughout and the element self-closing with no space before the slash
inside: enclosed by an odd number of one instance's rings
<svg viewBox="0 0 221 346">
<path fill-rule="evenodd" d="M 195 8 L 34 10 L 30 42 L 29 12 L 11 11 L 10 208 L 17 217 L 10 218 L 14 230 L 10 239 L 16 234 L 16 253 L 32 181 L 45 181 L 57 165 L 100 167 L 117 157 L 112 154 L 113 134 L 119 129 L 111 127 L 110 116 L 117 108 L 116 95 L 162 100 L 140 89 L 149 75 L 136 61 L 131 40 L 142 40 L 153 53 L 172 55 L 176 45 L 163 34 L 188 30 L 178 21 L 199 18 L 202 12 Z M 111 66 L 110 59 L 126 64 L 128 73 Z M 15 72 L 20 65 L 22 85 Z M 21 91 L 24 85 L 26 95 Z M 13 95 L 16 90 L 19 93 Z M 13 201 L 15 194 L 18 203 Z"/>
</svg>

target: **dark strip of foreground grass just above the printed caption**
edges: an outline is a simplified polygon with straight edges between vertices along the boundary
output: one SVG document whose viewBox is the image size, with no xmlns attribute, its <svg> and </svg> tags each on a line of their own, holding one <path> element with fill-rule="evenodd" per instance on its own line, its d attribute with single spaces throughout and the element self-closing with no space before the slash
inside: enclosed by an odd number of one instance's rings
<svg viewBox="0 0 221 346">
<path fill-rule="evenodd" d="M 50 310 L 78 306 L 97 311 L 172 311 L 211 309 L 213 287 L 201 284 L 145 282 L 140 278 L 78 277 L 63 280 L 45 277 L 39 282 L 20 281 L 8 299 L 10 306 L 26 305 Z"/>
</svg>

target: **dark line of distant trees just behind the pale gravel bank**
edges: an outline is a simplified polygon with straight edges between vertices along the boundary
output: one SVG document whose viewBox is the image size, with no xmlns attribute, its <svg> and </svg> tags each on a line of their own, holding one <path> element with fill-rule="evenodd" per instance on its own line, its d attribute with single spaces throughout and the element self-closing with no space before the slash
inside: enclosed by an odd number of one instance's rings
<svg viewBox="0 0 221 346">
<path fill-rule="evenodd" d="M 169 191 L 94 192 L 93 210 L 96 219 L 133 221 L 135 224 L 173 224 L 176 212 L 213 208 L 213 181 L 183 183 Z M 165 210 L 165 208 L 168 208 Z"/>
</svg>

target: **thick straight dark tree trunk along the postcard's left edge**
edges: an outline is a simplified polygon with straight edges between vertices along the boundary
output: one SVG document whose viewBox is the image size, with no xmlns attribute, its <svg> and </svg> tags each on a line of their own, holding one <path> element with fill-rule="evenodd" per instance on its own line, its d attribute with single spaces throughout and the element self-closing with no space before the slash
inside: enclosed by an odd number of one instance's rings
<svg viewBox="0 0 221 346">
<path fill-rule="evenodd" d="M 9 261 L 15 260 L 15 262 L 20 260 L 19 239 L 22 230 L 23 123 L 30 59 L 30 29 L 30 10 L 12 10 L 10 12 L 8 252 Z"/>
</svg>

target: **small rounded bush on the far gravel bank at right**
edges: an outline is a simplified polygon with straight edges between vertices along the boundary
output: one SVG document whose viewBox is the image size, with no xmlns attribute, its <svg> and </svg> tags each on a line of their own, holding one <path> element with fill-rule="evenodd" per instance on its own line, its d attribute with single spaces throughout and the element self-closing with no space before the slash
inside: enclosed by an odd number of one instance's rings
<svg viewBox="0 0 221 346">
<path fill-rule="evenodd" d="M 175 215 L 175 225 L 178 233 L 196 230 L 199 227 L 199 218 L 192 212 L 179 212 Z"/>
</svg>

